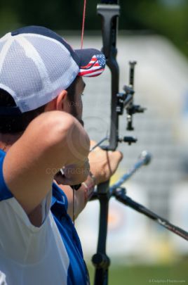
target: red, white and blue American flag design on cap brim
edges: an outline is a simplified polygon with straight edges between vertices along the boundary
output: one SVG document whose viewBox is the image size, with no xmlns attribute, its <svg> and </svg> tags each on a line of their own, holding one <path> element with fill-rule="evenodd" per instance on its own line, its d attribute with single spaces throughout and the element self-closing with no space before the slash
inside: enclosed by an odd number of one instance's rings
<svg viewBox="0 0 188 285">
<path fill-rule="evenodd" d="M 86 66 L 81 66 L 79 76 L 94 77 L 100 75 L 105 70 L 105 56 L 104 54 L 97 54 L 91 58 Z"/>
</svg>

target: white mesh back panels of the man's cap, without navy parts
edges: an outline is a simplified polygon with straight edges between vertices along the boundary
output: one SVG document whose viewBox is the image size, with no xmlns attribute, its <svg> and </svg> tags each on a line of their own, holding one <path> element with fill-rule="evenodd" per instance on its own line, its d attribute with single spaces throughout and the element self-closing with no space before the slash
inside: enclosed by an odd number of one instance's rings
<svg viewBox="0 0 188 285">
<path fill-rule="evenodd" d="M 22 112 L 52 101 L 79 72 L 69 51 L 39 34 L 9 35 L 0 41 L 0 84 L 11 90 Z M 6 44 L 6 48 L 4 48 Z"/>
</svg>

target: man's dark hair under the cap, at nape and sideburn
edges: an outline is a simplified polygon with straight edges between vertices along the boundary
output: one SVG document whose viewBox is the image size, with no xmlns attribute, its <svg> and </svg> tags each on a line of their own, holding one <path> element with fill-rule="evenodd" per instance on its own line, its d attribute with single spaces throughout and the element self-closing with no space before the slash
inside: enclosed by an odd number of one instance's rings
<svg viewBox="0 0 188 285">
<path fill-rule="evenodd" d="M 69 101 L 74 101 L 76 79 L 67 88 L 67 96 Z M 0 106 L 16 106 L 13 97 L 4 89 L 0 89 Z M 46 105 L 43 105 L 35 110 L 30 110 L 28 112 L 22 113 L 21 115 L 0 115 L 0 133 L 16 134 L 18 132 L 24 132 L 29 125 L 29 122 L 32 122 L 34 118 L 43 113 L 45 107 Z"/>
</svg>

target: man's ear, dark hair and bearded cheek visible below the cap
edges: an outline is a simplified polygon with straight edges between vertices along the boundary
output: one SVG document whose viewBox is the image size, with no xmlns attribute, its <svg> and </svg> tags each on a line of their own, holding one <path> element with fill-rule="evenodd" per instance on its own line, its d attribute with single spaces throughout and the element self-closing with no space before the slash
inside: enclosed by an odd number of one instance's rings
<svg viewBox="0 0 188 285">
<path fill-rule="evenodd" d="M 36 116 L 43 112 L 50 110 L 63 110 L 67 113 L 72 114 L 81 125 L 83 125 L 82 120 L 82 100 L 81 95 L 83 94 L 83 89 L 85 88 L 85 83 L 81 77 L 76 77 L 74 82 L 66 89 L 60 91 L 55 99 L 46 103 L 45 105 L 30 110 L 25 113 L 14 113 L 10 109 L 8 115 L 0 114 L 0 133 L 1 134 L 17 134 L 18 132 L 23 132 L 29 125 L 29 122 L 34 120 Z M 4 89 L 0 89 L 0 108 L 15 107 L 15 101 L 13 97 L 8 94 Z M 17 112 L 17 109 L 15 109 Z"/>
</svg>

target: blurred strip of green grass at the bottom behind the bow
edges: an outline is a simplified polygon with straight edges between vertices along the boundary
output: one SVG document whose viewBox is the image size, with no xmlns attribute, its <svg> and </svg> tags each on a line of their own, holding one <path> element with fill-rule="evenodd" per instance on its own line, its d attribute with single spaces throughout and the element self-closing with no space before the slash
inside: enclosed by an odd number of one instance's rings
<svg viewBox="0 0 188 285">
<path fill-rule="evenodd" d="M 94 269 L 88 266 L 93 285 Z M 174 265 L 112 265 L 109 285 L 188 284 L 188 260 Z"/>
</svg>

